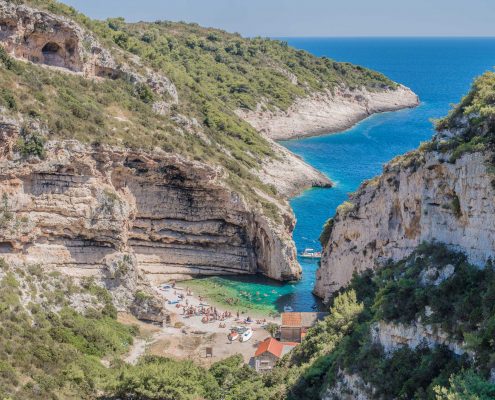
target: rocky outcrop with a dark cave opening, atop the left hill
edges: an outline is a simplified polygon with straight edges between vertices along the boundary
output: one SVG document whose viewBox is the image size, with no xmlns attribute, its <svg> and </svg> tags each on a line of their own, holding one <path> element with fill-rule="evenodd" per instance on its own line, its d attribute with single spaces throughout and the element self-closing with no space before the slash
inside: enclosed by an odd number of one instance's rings
<svg viewBox="0 0 495 400">
<path fill-rule="evenodd" d="M 144 74 L 137 73 L 117 62 L 90 32 L 69 18 L 1 0 L 0 45 L 17 59 L 87 78 L 146 82 L 159 96 L 153 105 L 158 113 L 179 102 L 177 88 L 168 77 L 147 68 Z"/>
</svg>

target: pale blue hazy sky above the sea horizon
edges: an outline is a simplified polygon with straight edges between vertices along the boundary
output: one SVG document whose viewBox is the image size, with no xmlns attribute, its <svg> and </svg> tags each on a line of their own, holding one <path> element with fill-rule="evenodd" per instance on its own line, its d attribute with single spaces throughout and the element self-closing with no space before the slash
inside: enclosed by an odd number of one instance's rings
<svg viewBox="0 0 495 400">
<path fill-rule="evenodd" d="M 495 36 L 495 0 L 62 0 L 97 19 L 186 21 L 244 36 Z"/>
</svg>

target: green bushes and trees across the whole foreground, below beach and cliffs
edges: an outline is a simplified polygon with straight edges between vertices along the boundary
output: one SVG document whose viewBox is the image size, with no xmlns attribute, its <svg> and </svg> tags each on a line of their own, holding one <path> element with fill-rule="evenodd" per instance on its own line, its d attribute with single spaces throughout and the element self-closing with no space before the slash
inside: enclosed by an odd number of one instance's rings
<svg viewBox="0 0 495 400">
<path fill-rule="evenodd" d="M 454 273 L 434 284 L 441 271 Z M 431 281 L 425 281 L 425 272 Z M 271 372 L 258 374 L 233 356 L 206 370 L 191 361 L 144 357 L 125 365 L 122 354 L 136 330 L 115 321 L 104 290 L 75 286 L 39 267 L 1 263 L 0 396 L 167 400 L 320 399 L 342 371 L 357 374 L 380 399 L 473 399 L 495 396 L 489 383 L 495 360 L 495 270 L 470 265 L 463 254 L 438 244 L 376 274 L 355 276 L 330 315 Z M 88 302 L 89 299 L 92 299 Z M 86 299 L 83 309 L 81 299 Z M 425 307 L 432 313 L 425 314 Z M 445 346 L 398 347 L 386 354 L 372 340 L 377 321 L 419 319 L 464 341 L 457 356 Z M 106 360 L 102 363 L 102 360 Z M 108 365 L 108 366 L 105 366 Z M 41 397 L 40 397 L 41 396 Z"/>
</svg>

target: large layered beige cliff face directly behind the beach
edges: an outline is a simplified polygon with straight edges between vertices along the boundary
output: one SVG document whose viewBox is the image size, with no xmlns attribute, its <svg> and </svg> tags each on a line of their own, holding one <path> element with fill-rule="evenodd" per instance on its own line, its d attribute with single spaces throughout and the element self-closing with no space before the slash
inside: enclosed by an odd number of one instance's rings
<svg viewBox="0 0 495 400">
<path fill-rule="evenodd" d="M 4 124 L 3 135 L 14 139 L 16 129 Z M 0 158 L 0 171 L 0 257 L 8 261 L 105 278 L 112 260 L 128 254 L 154 282 L 300 275 L 287 206 L 280 205 L 284 222 L 277 225 L 229 190 L 221 170 L 205 164 L 49 142 L 44 160 L 10 154 Z"/>
</svg>

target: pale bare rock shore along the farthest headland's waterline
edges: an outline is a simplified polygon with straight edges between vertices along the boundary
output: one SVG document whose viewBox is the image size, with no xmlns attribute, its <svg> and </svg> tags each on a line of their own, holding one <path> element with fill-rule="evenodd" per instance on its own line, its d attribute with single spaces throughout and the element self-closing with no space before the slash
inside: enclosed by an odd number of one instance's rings
<svg viewBox="0 0 495 400">
<path fill-rule="evenodd" d="M 286 111 L 264 111 L 259 104 L 257 110 L 237 114 L 266 137 L 284 140 L 343 131 L 371 114 L 418 104 L 418 96 L 402 85 L 373 92 L 339 88 L 300 98 Z"/>
</svg>

